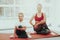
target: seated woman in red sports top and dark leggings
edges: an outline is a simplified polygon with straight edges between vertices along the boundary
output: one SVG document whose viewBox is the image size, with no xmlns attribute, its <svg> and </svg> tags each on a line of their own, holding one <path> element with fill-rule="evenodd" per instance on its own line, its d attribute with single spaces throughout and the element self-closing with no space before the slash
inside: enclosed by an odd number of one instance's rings
<svg viewBox="0 0 60 40">
<path fill-rule="evenodd" d="M 46 25 L 46 16 L 41 11 L 41 9 L 42 9 L 41 4 L 38 4 L 37 5 L 38 12 L 31 18 L 30 24 L 34 27 L 34 31 L 36 31 L 37 34 L 48 34 L 50 33 L 50 30 Z M 33 25 L 32 23 L 33 19 L 35 19 L 35 25 Z"/>
</svg>

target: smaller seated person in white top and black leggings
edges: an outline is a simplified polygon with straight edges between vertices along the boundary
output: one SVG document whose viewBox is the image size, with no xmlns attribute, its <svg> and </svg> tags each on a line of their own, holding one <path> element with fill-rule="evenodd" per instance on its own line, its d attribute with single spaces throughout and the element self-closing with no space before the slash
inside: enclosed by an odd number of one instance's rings
<svg viewBox="0 0 60 40">
<path fill-rule="evenodd" d="M 19 13 L 18 18 L 19 18 L 19 22 L 15 26 L 14 35 L 16 34 L 18 38 L 28 38 L 27 33 L 25 32 L 26 25 L 25 25 L 25 21 L 23 20 L 24 18 L 23 13 Z"/>
</svg>

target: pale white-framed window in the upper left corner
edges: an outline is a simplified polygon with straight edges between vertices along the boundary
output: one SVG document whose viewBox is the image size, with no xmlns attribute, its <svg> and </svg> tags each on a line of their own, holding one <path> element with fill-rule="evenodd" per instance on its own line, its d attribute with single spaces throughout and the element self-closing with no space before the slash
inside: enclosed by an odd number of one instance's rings
<svg viewBox="0 0 60 40">
<path fill-rule="evenodd" d="M 0 17 L 13 17 L 14 16 L 14 0 L 0 0 Z"/>
</svg>

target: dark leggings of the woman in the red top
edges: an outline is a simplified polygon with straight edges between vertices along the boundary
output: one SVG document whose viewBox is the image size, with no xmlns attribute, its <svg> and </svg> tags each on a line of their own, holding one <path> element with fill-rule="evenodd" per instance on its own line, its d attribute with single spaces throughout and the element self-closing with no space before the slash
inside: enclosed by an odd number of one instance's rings
<svg viewBox="0 0 60 40">
<path fill-rule="evenodd" d="M 36 31 L 37 34 L 49 34 L 50 33 L 50 30 L 48 26 L 46 25 L 46 23 L 39 24 L 37 27 L 38 27 L 37 29 L 34 28 L 34 31 Z"/>
</svg>

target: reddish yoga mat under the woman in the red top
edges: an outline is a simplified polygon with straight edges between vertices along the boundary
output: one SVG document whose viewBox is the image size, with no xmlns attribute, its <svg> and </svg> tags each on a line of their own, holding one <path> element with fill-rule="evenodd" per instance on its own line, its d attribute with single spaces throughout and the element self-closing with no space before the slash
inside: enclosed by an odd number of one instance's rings
<svg viewBox="0 0 60 40">
<path fill-rule="evenodd" d="M 52 31 L 50 34 L 47 34 L 47 35 L 31 33 L 31 36 L 32 36 L 32 38 L 50 38 L 50 37 L 58 37 L 58 36 L 60 36 L 60 34 L 57 34 Z"/>
</svg>

